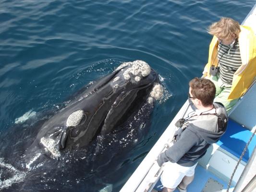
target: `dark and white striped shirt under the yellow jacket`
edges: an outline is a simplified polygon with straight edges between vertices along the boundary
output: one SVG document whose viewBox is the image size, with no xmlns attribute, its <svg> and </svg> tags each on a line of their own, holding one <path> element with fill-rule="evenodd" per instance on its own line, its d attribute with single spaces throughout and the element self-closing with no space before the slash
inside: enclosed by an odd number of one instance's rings
<svg viewBox="0 0 256 192">
<path fill-rule="evenodd" d="M 242 65 L 238 41 L 233 46 L 218 45 L 219 77 L 222 82 L 232 84 L 233 75 Z"/>
</svg>

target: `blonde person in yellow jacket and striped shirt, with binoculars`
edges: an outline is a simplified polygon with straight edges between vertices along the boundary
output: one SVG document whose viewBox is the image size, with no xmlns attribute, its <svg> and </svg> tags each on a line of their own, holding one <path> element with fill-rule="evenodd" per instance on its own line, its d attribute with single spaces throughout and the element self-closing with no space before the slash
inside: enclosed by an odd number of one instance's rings
<svg viewBox="0 0 256 192">
<path fill-rule="evenodd" d="M 214 101 L 229 113 L 256 77 L 256 36 L 250 27 L 225 17 L 211 24 L 208 33 L 213 39 L 203 74 L 216 86 Z"/>
</svg>

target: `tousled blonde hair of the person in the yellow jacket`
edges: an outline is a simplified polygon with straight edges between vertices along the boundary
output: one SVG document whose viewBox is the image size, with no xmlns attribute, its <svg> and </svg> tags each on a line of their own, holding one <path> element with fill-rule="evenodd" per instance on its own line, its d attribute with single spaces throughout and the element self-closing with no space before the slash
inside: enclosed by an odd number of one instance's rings
<svg viewBox="0 0 256 192">
<path fill-rule="evenodd" d="M 211 24 L 207 31 L 213 36 L 228 39 L 232 34 L 235 35 L 235 38 L 238 38 L 241 29 L 240 24 L 237 21 L 231 18 L 222 17 L 218 22 Z"/>
</svg>

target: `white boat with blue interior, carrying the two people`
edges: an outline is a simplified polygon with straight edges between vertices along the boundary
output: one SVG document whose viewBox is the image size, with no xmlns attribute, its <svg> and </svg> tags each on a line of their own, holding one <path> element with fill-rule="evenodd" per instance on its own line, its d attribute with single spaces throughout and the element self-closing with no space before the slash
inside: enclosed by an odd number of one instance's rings
<svg viewBox="0 0 256 192">
<path fill-rule="evenodd" d="M 242 25 L 250 26 L 256 34 L 255 21 L 256 4 Z M 225 134 L 199 160 L 188 192 L 256 192 L 255 96 L 256 79 L 230 111 Z M 174 124 L 188 113 L 188 106 L 186 101 L 120 192 L 152 192 L 163 188 L 159 180 L 163 168 L 158 167 L 156 159 L 171 145 Z"/>
</svg>

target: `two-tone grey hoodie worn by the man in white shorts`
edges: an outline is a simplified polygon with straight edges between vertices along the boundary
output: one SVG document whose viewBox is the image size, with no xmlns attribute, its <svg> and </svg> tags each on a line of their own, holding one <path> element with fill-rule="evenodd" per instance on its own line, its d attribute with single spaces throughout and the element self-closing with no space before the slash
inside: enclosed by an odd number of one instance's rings
<svg viewBox="0 0 256 192">
<path fill-rule="evenodd" d="M 218 103 L 213 103 L 213 105 L 218 115 L 224 114 L 227 118 L 227 112 L 224 107 Z M 214 113 L 215 109 L 209 112 Z M 195 165 L 199 158 L 205 155 L 210 144 L 218 142 L 226 131 L 226 127 L 223 130 L 219 130 L 218 117 L 216 115 L 195 114 L 185 120 L 183 127 L 175 132 L 176 142 L 158 156 L 157 162 L 159 166 L 167 161 L 185 167 Z"/>
</svg>

